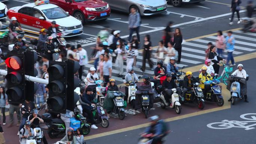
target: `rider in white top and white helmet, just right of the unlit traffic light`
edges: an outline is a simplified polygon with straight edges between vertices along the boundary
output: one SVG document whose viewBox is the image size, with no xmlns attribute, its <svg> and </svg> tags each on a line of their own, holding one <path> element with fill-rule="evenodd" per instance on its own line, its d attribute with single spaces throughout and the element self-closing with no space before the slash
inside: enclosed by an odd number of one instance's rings
<svg viewBox="0 0 256 144">
<path fill-rule="evenodd" d="M 87 82 L 88 82 L 88 87 L 95 92 L 95 88 L 97 87 L 95 81 L 99 79 L 99 76 L 97 73 L 95 73 L 96 69 L 94 67 L 91 67 L 90 70 L 88 71 L 88 74 L 86 76 Z M 92 79 L 93 78 L 93 79 Z"/>
</svg>

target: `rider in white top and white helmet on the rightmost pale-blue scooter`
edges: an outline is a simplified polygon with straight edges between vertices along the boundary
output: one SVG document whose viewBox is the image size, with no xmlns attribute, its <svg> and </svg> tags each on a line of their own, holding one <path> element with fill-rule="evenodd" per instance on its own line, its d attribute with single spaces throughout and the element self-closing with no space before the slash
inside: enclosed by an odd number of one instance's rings
<svg viewBox="0 0 256 144">
<path fill-rule="evenodd" d="M 241 78 L 246 79 L 246 71 L 243 68 L 244 68 L 244 66 L 242 64 L 238 64 L 237 70 L 235 70 L 231 75 L 235 76 L 235 77 L 241 77 Z M 232 82 L 230 82 L 230 83 L 232 83 Z M 247 100 L 247 85 L 244 83 L 241 83 L 241 82 L 239 82 L 239 83 L 240 83 L 240 87 L 241 87 L 241 94 L 244 95 L 244 101 L 249 102 Z M 231 101 L 231 98 L 228 101 Z"/>
</svg>

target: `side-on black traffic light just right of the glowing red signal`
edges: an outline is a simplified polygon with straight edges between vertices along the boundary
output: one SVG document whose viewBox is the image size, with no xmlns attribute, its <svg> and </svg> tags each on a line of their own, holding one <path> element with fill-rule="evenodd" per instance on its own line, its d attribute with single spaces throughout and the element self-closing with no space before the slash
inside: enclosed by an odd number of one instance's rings
<svg viewBox="0 0 256 144">
<path fill-rule="evenodd" d="M 36 52 L 26 50 L 24 52 L 24 56 L 25 75 L 36 77 L 38 74 L 36 68 L 34 67 L 36 60 L 38 59 Z M 34 94 L 37 91 L 36 83 L 31 81 L 25 81 L 25 84 L 25 99 L 29 101 L 34 101 Z"/>
</svg>

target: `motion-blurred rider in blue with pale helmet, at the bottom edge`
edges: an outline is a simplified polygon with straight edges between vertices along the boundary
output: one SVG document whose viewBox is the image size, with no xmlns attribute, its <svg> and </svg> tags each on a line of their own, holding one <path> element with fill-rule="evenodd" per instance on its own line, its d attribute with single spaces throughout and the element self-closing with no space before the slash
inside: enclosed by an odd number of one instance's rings
<svg viewBox="0 0 256 144">
<path fill-rule="evenodd" d="M 168 133 L 168 126 L 164 122 L 164 120 L 159 120 L 159 116 L 149 117 L 150 126 L 146 129 L 146 131 L 141 134 L 141 137 L 147 134 L 153 134 L 151 138 L 153 138 L 152 144 L 162 144 L 163 138 Z"/>
</svg>

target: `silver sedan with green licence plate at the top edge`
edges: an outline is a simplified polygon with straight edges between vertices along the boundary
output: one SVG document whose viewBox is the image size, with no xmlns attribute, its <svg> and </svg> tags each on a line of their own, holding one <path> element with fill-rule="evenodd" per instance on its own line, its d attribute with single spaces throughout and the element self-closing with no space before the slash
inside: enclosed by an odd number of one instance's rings
<svg viewBox="0 0 256 144">
<path fill-rule="evenodd" d="M 140 15 L 155 15 L 166 12 L 166 0 L 104 0 L 109 3 L 113 10 L 130 13 L 130 9 L 134 7 Z"/>
</svg>

